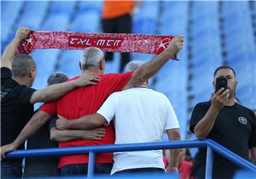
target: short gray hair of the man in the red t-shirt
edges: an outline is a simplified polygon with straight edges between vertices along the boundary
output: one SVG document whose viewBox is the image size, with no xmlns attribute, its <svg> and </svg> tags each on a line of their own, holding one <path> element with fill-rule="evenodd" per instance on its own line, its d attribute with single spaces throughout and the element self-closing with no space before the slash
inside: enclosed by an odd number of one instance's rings
<svg viewBox="0 0 256 179">
<path fill-rule="evenodd" d="M 80 57 L 82 70 L 99 67 L 99 63 L 102 60 L 105 62 L 102 50 L 97 47 L 88 47 L 82 52 Z"/>
</svg>

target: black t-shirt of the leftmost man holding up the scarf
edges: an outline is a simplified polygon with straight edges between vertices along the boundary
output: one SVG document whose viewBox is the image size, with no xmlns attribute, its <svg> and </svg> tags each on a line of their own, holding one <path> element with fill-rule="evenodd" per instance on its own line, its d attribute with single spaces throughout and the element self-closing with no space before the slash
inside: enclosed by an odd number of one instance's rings
<svg viewBox="0 0 256 179">
<path fill-rule="evenodd" d="M 14 142 L 33 115 L 30 100 L 36 90 L 20 85 L 11 76 L 11 69 L 1 67 L 1 146 Z"/>
</svg>

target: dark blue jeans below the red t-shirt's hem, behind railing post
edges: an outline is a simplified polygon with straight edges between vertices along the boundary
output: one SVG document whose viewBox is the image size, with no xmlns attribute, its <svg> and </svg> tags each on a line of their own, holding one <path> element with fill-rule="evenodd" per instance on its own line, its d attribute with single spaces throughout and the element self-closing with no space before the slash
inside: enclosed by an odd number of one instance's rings
<svg viewBox="0 0 256 179">
<path fill-rule="evenodd" d="M 112 163 L 95 163 L 95 174 L 110 175 Z M 60 168 L 60 175 L 87 175 L 88 164 L 73 164 Z"/>
</svg>

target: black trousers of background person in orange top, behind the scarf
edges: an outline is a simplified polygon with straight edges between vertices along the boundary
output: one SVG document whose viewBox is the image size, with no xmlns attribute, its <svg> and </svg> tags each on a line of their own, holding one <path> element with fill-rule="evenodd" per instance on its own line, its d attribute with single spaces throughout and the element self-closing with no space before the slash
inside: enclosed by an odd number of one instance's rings
<svg viewBox="0 0 256 179">
<path fill-rule="evenodd" d="M 102 28 L 104 33 L 132 33 L 132 16 L 127 13 L 117 18 L 103 19 Z M 106 52 L 106 61 L 112 61 L 113 52 Z M 122 72 L 125 65 L 130 61 L 129 53 L 121 53 L 121 64 L 119 72 Z"/>
</svg>

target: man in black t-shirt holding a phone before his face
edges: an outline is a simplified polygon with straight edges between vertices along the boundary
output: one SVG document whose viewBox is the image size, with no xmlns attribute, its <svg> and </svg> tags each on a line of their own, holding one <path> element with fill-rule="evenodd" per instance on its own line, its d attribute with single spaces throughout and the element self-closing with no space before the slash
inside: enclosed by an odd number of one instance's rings
<svg viewBox="0 0 256 179">
<path fill-rule="evenodd" d="M 198 139 L 213 139 L 218 144 L 248 160 L 248 149 L 256 164 L 256 117 L 252 110 L 234 102 L 238 82 L 234 69 L 215 69 L 210 101 L 198 103 L 193 109 L 190 130 Z M 205 178 L 206 148 L 199 148 L 196 178 Z M 213 178 L 233 178 L 239 167 L 214 153 Z"/>
</svg>

